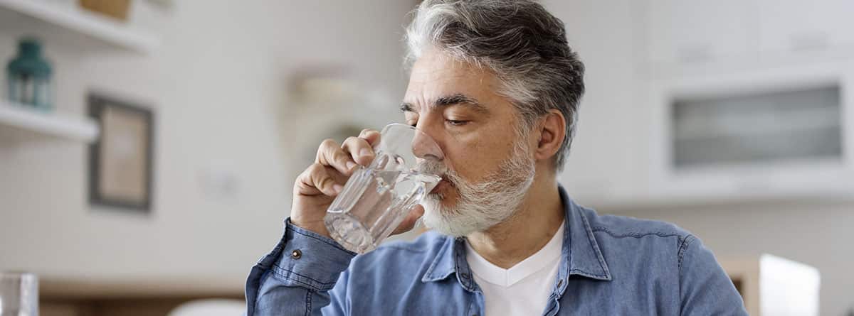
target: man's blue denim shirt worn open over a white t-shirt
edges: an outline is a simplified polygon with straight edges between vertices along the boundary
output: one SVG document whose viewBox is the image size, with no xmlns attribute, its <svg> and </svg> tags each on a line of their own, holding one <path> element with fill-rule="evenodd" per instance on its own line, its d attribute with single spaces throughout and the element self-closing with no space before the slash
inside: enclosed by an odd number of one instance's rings
<svg viewBox="0 0 854 316">
<path fill-rule="evenodd" d="M 746 315 L 699 238 L 660 221 L 597 215 L 560 188 L 564 243 L 543 315 Z M 483 315 L 465 241 L 424 233 L 356 256 L 285 221 L 246 282 L 254 315 Z"/>
</svg>

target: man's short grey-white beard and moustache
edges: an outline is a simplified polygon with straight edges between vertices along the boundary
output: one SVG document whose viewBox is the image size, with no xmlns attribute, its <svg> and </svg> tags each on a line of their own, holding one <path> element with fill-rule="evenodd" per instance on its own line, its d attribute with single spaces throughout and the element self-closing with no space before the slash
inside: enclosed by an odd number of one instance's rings
<svg viewBox="0 0 854 316">
<path fill-rule="evenodd" d="M 522 140 L 525 138 L 522 137 Z M 459 198 L 453 207 L 442 205 L 443 197 L 433 193 L 424 197 L 424 225 L 436 232 L 451 236 L 465 236 L 483 232 L 516 213 L 525 194 L 534 182 L 534 159 L 524 141 L 513 148 L 512 156 L 499 165 L 499 168 L 483 178 L 479 183 L 465 181 L 451 169 L 444 173 L 448 181 L 457 189 Z M 444 167 L 425 165 L 425 169 L 434 171 Z"/>
</svg>

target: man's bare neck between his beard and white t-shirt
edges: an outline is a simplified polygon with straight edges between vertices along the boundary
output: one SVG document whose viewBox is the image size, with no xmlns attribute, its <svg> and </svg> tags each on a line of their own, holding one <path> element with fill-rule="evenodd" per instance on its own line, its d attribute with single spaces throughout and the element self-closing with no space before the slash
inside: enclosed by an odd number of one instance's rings
<svg viewBox="0 0 854 316">
<path fill-rule="evenodd" d="M 541 250 L 564 221 L 554 175 L 537 173 L 516 213 L 485 232 L 465 236 L 471 248 L 495 266 L 510 268 Z"/>
</svg>

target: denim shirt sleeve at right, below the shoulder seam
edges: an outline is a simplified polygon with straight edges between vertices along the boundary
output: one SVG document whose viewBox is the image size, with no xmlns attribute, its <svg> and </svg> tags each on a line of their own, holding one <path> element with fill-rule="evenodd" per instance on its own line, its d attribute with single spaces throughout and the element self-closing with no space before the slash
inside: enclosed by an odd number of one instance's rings
<svg viewBox="0 0 854 316">
<path fill-rule="evenodd" d="M 682 315 L 747 315 L 732 280 L 699 238 L 682 241 L 679 262 Z"/>
</svg>

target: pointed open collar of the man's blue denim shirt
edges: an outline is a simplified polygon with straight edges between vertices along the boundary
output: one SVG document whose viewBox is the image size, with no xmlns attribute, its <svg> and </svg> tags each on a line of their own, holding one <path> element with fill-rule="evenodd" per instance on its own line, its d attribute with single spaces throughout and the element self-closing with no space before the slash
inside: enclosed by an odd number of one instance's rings
<svg viewBox="0 0 854 316">
<path fill-rule="evenodd" d="M 610 281 L 611 273 L 599 243 L 594 238 L 590 223 L 579 210 L 579 206 L 569 198 L 564 187 L 559 186 L 560 199 L 564 204 L 564 245 L 558 270 L 558 283 L 555 295 L 562 296 L 566 289 L 566 279 L 578 275 L 590 279 Z M 422 282 L 447 279 L 456 274 L 459 284 L 465 290 L 474 291 L 476 286 L 471 277 L 468 262 L 465 261 L 465 239 L 446 238 L 439 254 L 430 264 Z"/>
</svg>

